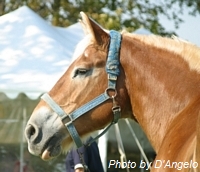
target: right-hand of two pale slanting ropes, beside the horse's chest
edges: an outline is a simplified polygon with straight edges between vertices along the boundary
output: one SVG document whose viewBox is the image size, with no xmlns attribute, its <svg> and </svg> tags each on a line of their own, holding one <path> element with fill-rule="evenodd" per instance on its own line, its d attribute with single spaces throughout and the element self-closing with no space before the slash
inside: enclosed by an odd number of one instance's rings
<svg viewBox="0 0 200 172">
<path fill-rule="evenodd" d="M 126 121 L 126 124 L 127 124 L 128 128 L 129 128 L 129 130 L 131 131 L 131 134 L 132 134 L 133 138 L 135 139 L 135 142 L 136 142 L 136 144 L 137 144 L 137 146 L 138 146 L 138 148 L 139 148 L 144 160 L 146 161 L 146 163 L 149 166 L 149 160 L 148 160 L 146 154 L 144 153 L 144 150 L 143 150 L 143 148 L 142 148 L 142 146 L 141 146 L 141 144 L 140 144 L 140 142 L 139 142 L 139 140 L 138 140 L 133 128 L 131 127 L 131 124 L 130 124 L 129 120 L 125 119 L 125 121 Z M 150 170 L 151 170 L 151 167 L 150 167 Z"/>
</svg>

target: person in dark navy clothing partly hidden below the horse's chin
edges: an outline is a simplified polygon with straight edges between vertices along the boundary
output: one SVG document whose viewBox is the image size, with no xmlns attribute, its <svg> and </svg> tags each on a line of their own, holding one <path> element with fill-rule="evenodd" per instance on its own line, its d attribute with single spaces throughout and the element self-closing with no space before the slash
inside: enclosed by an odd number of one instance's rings
<svg viewBox="0 0 200 172">
<path fill-rule="evenodd" d="M 66 172 L 104 172 L 97 143 L 70 150 L 66 157 Z"/>
</svg>

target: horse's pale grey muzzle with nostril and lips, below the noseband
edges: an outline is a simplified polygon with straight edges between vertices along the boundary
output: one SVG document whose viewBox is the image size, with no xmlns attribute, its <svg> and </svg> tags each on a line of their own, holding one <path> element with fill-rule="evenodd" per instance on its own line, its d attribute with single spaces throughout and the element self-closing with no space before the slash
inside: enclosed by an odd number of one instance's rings
<svg viewBox="0 0 200 172">
<path fill-rule="evenodd" d="M 66 133 L 60 118 L 52 111 L 34 112 L 25 128 L 29 152 L 43 160 L 58 156 Z"/>
</svg>

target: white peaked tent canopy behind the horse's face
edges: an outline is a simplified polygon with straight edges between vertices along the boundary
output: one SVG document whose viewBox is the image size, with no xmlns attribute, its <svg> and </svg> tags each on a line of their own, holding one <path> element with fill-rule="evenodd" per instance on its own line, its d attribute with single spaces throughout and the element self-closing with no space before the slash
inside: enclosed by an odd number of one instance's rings
<svg viewBox="0 0 200 172">
<path fill-rule="evenodd" d="M 83 36 L 79 23 L 53 27 L 26 6 L 1 16 L 0 91 L 36 98 L 50 90 Z"/>
</svg>

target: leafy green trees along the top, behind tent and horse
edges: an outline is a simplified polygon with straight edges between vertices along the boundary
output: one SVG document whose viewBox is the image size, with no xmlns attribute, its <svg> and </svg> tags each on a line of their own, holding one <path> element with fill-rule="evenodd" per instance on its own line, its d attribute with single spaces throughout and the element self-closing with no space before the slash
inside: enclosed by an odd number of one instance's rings
<svg viewBox="0 0 200 172">
<path fill-rule="evenodd" d="M 190 9 L 191 15 L 200 13 L 199 0 L 1 0 L 0 15 L 22 5 L 55 26 L 66 27 L 77 22 L 79 12 L 84 11 L 106 29 L 134 31 L 144 27 L 160 35 L 172 33 L 162 26 L 160 15 L 172 20 L 178 28 L 185 8 Z"/>
</svg>

